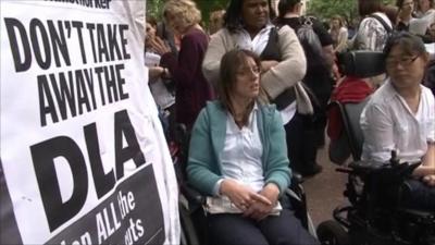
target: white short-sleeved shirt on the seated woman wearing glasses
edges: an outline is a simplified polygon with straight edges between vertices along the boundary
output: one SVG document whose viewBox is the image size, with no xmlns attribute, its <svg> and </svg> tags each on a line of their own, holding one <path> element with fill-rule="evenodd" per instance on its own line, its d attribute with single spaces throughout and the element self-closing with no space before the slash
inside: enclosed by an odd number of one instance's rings
<svg viewBox="0 0 435 245">
<path fill-rule="evenodd" d="M 389 79 L 372 95 L 360 119 L 362 160 L 385 162 L 396 150 L 402 162 L 414 162 L 426 154 L 427 143 L 435 142 L 435 100 L 428 88 L 421 88 L 415 114 Z"/>
</svg>

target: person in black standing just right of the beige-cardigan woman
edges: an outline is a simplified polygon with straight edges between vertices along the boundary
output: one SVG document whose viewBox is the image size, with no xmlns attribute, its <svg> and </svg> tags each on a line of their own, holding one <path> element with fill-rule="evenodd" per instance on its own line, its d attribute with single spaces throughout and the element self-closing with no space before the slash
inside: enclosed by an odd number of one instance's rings
<svg viewBox="0 0 435 245">
<path fill-rule="evenodd" d="M 296 114 L 294 118 L 295 134 L 290 146 L 290 161 L 302 175 L 312 175 L 321 171 L 315 162 L 318 146 L 324 145 L 326 126 L 326 106 L 333 88 L 332 64 L 334 62 L 333 39 L 322 23 L 313 17 L 301 16 L 301 0 L 281 0 L 277 25 L 288 25 L 297 33 L 307 21 L 312 23 L 312 29 L 322 46 L 321 54 L 307 50 L 307 74 L 303 83 L 314 94 L 314 117 Z M 293 158 L 293 159 L 291 159 Z"/>
</svg>

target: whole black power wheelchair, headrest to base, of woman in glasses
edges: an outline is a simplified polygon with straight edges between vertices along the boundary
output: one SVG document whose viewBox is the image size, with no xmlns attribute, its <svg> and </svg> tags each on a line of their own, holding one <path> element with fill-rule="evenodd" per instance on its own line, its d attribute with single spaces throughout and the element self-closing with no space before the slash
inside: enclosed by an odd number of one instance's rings
<svg viewBox="0 0 435 245">
<path fill-rule="evenodd" d="M 340 58 L 346 75 L 369 77 L 384 72 L 382 52 L 352 51 Z M 409 191 L 407 180 L 420 163 L 361 161 L 363 134 L 359 125 L 368 99 L 359 103 L 333 102 L 340 111 L 344 133 L 353 161 L 338 172 L 348 174 L 344 196 L 348 204 L 333 211 L 334 220 L 318 225 L 322 244 L 435 244 L 435 209 L 408 208 L 402 204 Z"/>
</svg>

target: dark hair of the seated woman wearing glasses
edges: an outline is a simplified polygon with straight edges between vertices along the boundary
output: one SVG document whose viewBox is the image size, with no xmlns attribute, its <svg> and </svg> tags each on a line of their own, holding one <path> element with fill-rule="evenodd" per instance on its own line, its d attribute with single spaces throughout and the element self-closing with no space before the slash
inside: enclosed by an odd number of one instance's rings
<svg viewBox="0 0 435 245">
<path fill-rule="evenodd" d="M 408 32 L 394 33 L 387 40 L 384 47 L 384 59 L 386 59 L 396 46 L 408 54 L 423 54 L 426 53 L 426 48 L 421 37 L 410 34 Z"/>
</svg>

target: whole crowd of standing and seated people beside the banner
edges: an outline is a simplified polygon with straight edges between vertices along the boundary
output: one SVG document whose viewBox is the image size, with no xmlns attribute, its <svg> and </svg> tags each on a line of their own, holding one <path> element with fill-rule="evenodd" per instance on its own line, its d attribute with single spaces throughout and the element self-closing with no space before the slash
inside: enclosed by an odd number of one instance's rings
<svg viewBox="0 0 435 245">
<path fill-rule="evenodd" d="M 322 172 L 316 152 L 326 145 L 325 128 L 330 154 L 343 147 L 338 115 L 327 107 L 333 100 L 370 96 L 362 159 L 388 161 L 397 150 L 403 161 L 421 161 L 405 203 L 435 207 L 435 101 L 427 88 L 435 75 L 424 45 L 435 42 L 434 1 L 397 0 L 388 8 L 358 0 L 355 35 L 341 16 L 327 28 L 301 7 L 279 0 L 275 15 L 271 0 L 231 0 L 210 14 L 209 30 L 191 0 L 166 1 L 162 23 L 147 17 L 145 61 L 167 140 L 175 124 L 186 125 L 189 184 L 235 206 L 208 215 L 216 244 L 318 244 L 284 193 L 293 171 Z M 312 30 L 319 53 L 301 29 Z M 340 74 L 336 57 L 349 49 L 382 51 L 386 73 Z M 331 160 L 343 164 L 344 156 Z"/>
</svg>

